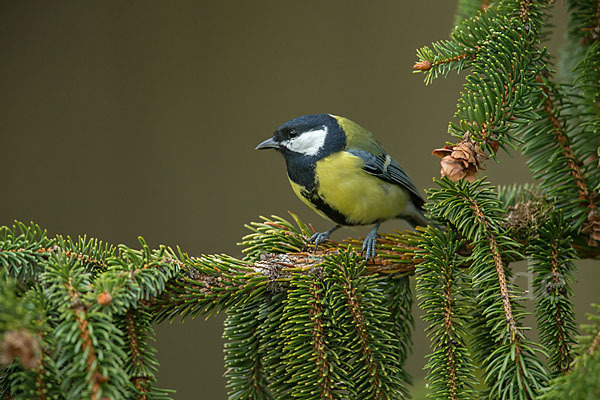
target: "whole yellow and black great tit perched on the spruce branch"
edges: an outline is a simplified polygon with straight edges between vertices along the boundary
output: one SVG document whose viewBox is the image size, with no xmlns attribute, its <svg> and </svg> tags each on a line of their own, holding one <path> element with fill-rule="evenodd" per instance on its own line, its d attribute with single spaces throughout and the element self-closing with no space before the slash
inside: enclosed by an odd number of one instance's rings
<svg viewBox="0 0 600 400">
<path fill-rule="evenodd" d="M 377 230 L 388 219 L 426 226 L 423 198 L 406 172 L 366 129 L 330 114 L 305 115 L 281 125 L 256 150 L 283 155 L 296 195 L 336 225 L 315 233 L 315 249 L 342 225 L 371 225 L 362 251 L 375 256 Z"/>
</svg>

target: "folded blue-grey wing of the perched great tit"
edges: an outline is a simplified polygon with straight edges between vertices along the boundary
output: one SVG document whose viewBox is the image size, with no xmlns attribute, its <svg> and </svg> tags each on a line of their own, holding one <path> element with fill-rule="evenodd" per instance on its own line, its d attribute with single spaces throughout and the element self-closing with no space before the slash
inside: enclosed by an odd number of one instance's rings
<svg viewBox="0 0 600 400">
<path fill-rule="evenodd" d="M 365 172 L 386 182 L 403 187 L 408 191 L 415 206 L 420 210 L 423 209 L 423 204 L 425 204 L 425 201 L 419 194 L 415 184 L 408 177 L 406 172 L 404 172 L 400 164 L 398 164 L 390 155 L 385 153 L 374 155 L 363 150 L 354 149 L 347 151 L 363 159 L 365 163 L 363 170 Z"/>
</svg>

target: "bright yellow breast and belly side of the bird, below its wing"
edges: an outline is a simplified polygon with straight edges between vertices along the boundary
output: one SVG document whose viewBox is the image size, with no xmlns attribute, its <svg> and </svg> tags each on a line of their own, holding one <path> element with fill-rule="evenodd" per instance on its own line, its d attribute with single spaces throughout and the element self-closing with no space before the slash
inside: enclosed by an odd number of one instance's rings
<svg viewBox="0 0 600 400">
<path fill-rule="evenodd" d="M 372 224 L 403 214 L 408 194 L 398 185 L 366 173 L 362 166 L 360 157 L 347 152 L 318 161 L 317 193 L 353 225 Z"/>
</svg>

